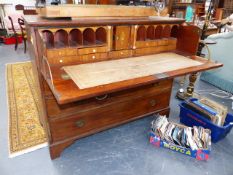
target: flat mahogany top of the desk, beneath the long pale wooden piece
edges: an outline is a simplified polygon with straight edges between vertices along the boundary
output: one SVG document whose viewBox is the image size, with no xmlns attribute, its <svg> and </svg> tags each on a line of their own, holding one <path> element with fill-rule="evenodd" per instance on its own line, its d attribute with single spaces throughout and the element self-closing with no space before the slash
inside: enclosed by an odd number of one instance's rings
<svg viewBox="0 0 233 175">
<path fill-rule="evenodd" d="M 80 17 L 76 19 L 46 19 L 39 16 L 24 17 L 32 27 L 86 26 L 86 25 L 136 25 L 136 24 L 181 24 L 183 19 L 169 17 Z"/>
</svg>

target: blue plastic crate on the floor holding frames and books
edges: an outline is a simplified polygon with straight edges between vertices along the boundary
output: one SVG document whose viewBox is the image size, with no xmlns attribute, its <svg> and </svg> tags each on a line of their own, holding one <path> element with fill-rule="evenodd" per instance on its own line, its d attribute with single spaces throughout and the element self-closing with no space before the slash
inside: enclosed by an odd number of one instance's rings
<svg viewBox="0 0 233 175">
<path fill-rule="evenodd" d="M 191 127 L 203 126 L 204 128 L 210 129 L 211 140 L 215 143 L 223 139 L 230 132 L 233 127 L 233 115 L 228 113 L 224 125 L 218 126 L 195 111 L 188 109 L 187 104 L 182 102 L 180 103 L 180 122 Z"/>
</svg>

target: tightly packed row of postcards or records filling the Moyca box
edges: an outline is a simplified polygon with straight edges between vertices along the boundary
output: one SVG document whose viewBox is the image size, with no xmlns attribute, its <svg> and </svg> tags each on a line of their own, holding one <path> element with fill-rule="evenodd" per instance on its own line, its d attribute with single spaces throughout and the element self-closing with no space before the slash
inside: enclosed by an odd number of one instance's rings
<svg viewBox="0 0 233 175">
<path fill-rule="evenodd" d="M 203 127 L 186 127 L 171 123 L 166 116 L 158 115 L 151 123 L 152 131 L 162 140 L 192 150 L 209 149 L 211 145 L 211 131 Z"/>
</svg>

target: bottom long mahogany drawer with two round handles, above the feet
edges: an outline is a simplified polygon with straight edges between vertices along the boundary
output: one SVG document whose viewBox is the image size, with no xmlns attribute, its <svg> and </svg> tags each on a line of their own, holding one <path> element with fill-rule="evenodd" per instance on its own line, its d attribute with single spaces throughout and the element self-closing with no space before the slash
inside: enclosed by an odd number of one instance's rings
<svg viewBox="0 0 233 175">
<path fill-rule="evenodd" d="M 88 135 L 88 132 L 136 119 L 169 106 L 170 92 L 144 96 L 136 100 L 104 106 L 78 115 L 50 121 L 52 141 Z"/>
</svg>

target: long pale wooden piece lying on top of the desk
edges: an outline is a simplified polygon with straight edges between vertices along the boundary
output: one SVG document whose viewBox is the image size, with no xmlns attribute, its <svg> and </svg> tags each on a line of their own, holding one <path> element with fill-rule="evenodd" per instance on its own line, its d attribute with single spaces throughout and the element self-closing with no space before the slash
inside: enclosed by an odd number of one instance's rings
<svg viewBox="0 0 233 175">
<path fill-rule="evenodd" d="M 117 5 L 57 5 L 37 9 L 38 14 L 46 18 L 56 17 L 129 17 L 155 16 L 153 7 L 117 6 Z"/>
</svg>

